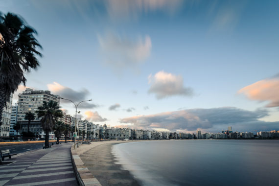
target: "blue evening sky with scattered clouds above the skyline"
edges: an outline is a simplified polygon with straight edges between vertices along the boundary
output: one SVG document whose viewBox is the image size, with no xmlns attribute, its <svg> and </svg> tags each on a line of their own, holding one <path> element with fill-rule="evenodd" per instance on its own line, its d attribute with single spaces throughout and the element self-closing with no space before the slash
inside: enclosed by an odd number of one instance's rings
<svg viewBox="0 0 279 186">
<path fill-rule="evenodd" d="M 279 130 L 279 1 L 0 0 L 38 32 L 26 86 L 95 124 Z M 14 95 L 25 88 L 21 85 Z M 72 116 L 72 103 L 61 101 Z"/>
</svg>

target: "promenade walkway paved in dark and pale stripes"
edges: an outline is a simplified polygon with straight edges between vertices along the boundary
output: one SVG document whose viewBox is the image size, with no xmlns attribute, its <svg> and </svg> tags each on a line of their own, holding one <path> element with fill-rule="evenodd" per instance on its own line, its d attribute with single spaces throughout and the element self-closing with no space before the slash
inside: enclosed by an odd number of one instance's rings
<svg viewBox="0 0 279 186">
<path fill-rule="evenodd" d="M 0 186 L 77 186 L 70 158 L 72 143 L 25 152 L 0 166 Z M 42 147 L 43 148 L 43 147 Z"/>
</svg>

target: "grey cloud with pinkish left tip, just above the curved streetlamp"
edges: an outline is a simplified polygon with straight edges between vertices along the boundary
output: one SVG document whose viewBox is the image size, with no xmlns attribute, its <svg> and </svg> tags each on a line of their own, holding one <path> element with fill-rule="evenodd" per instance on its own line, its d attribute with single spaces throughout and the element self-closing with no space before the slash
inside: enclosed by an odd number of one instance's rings
<svg viewBox="0 0 279 186">
<path fill-rule="evenodd" d="M 59 83 L 53 82 L 52 84 L 47 84 L 48 90 L 53 94 L 58 94 L 59 96 L 70 99 L 73 102 L 79 102 L 83 100 L 89 100 L 90 92 L 87 89 L 82 89 L 80 91 L 75 91 L 69 87 L 64 87 Z M 60 99 L 62 103 L 72 104 L 70 101 Z M 95 105 L 90 102 L 83 102 L 79 105 L 80 109 L 92 109 L 96 108 L 98 105 Z"/>
</svg>

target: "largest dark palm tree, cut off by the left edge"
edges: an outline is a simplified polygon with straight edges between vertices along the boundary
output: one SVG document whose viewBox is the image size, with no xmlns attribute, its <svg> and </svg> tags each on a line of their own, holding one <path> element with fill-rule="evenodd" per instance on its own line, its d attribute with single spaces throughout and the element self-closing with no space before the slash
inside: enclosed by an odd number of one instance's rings
<svg viewBox="0 0 279 186">
<path fill-rule="evenodd" d="M 36 34 L 20 16 L 0 13 L 0 120 L 10 94 L 21 83 L 25 85 L 24 73 L 39 66 L 37 56 L 42 54 L 36 49 L 42 47 L 34 37 Z"/>
</svg>

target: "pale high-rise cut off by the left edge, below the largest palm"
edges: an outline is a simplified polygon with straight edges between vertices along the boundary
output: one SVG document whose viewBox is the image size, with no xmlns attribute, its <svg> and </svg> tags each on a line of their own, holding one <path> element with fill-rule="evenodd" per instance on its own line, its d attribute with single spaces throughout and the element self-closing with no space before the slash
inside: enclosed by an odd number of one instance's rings
<svg viewBox="0 0 279 186">
<path fill-rule="evenodd" d="M 12 100 L 13 95 L 10 95 L 10 99 L 6 102 L 6 106 L 2 112 L 2 125 L 0 127 L 0 137 L 9 137 L 10 123 L 11 123 L 11 112 L 12 112 Z"/>
</svg>

